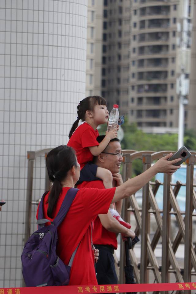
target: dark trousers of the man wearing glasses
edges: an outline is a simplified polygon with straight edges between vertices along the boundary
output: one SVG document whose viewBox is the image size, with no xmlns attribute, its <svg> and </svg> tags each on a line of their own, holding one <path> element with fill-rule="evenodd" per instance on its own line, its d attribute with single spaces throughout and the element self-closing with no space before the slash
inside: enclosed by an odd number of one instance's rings
<svg viewBox="0 0 196 294">
<path fill-rule="evenodd" d="M 99 249 L 99 260 L 95 265 L 99 285 L 117 284 L 118 279 L 114 265 L 114 249 L 111 246 L 95 245 Z"/>
</svg>

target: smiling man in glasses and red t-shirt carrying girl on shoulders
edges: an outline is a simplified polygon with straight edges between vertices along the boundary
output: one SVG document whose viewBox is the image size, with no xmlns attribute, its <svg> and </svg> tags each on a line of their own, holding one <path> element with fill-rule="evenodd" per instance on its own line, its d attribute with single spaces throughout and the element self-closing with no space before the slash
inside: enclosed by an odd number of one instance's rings
<svg viewBox="0 0 196 294">
<path fill-rule="evenodd" d="M 100 143 L 104 137 L 98 136 L 97 141 Z M 123 153 L 120 141 L 117 138 L 112 139 L 106 149 L 94 158 L 94 163 L 97 166 L 107 168 L 111 171 L 113 175 L 113 187 L 118 187 L 123 183 L 122 177 L 119 174 L 122 161 Z M 77 188 L 83 187 L 105 189 L 101 180 L 83 182 L 77 186 Z M 122 200 L 115 203 L 115 209 L 119 214 L 121 213 Z M 110 211 L 107 214 L 101 214 L 95 218 L 93 244 L 96 249 L 99 249 L 99 262 L 96 263 L 96 274 L 99 285 L 118 283 L 113 257 L 114 249 L 117 249 L 117 233 L 122 233 L 126 237 L 135 237 L 134 232 L 121 225 L 111 215 Z"/>
</svg>

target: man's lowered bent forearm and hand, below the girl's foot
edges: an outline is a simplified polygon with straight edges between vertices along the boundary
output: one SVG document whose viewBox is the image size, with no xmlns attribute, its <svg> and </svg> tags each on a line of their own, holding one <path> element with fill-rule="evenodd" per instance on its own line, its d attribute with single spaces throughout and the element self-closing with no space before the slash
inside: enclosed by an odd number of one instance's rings
<svg viewBox="0 0 196 294">
<path fill-rule="evenodd" d="M 116 234 L 123 233 L 126 237 L 133 237 L 134 232 L 120 224 L 118 220 L 112 217 L 110 211 L 107 214 L 99 214 L 99 218 L 106 230 Z"/>
</svg>

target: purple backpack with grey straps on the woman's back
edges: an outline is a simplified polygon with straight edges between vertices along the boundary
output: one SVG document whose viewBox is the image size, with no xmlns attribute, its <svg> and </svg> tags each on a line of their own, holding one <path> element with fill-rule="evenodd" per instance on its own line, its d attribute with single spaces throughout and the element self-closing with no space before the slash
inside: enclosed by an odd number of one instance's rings
<svg viewBox="0 0 196 294">
<path fill-rule="evenodd" d="M 62 286 L 69 283 L 70 269 L 79 244 L 69 264 L 65 265 L 56 254 L 57 228 L 65 218 L 77 191 L 75 188 L 68 190 L 57 216 L 49 226 L 44 226 L 50 220 L 43 218 L 43 199 L 47 192 L 43 194 L 38 211 L 38 230 L 28 239 L 21 255 L 26 287 Z"/>
</svg>

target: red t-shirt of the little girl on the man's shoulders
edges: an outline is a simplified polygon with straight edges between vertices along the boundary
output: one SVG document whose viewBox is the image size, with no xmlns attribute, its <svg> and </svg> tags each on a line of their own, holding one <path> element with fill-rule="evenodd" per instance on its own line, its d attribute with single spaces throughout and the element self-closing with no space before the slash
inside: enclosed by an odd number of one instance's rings
<svg viewBox="0 0 196 294">
<path fill-rule="evenodd" d="M 82 123 L 72 134 L 67 146 L 71 146 L 76 151 L 77 161 L 81 169 L 87 162 L 93 160 L 93 155 L 89 147 L 98 146 L 96 138 L 99 136 L 98 130 L 94 130 L 88 123 Z"/>
</svg>

